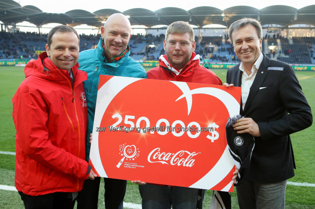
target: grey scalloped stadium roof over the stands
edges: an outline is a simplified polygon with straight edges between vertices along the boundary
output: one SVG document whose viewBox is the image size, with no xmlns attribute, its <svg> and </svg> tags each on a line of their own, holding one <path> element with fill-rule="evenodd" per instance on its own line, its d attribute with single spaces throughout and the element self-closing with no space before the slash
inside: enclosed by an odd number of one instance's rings
<svg viewBox="0 0 315 209">
<path fill-rule="evenodd" d="M 13 0 L 0 0 L 0 21 L 6 25 L 14 25 L 23 21 L 42 27 L 47 23 L 68 24 L 71 26 L 89 25 L 101 27 L 102 21 L 114 14 L 129 15 L 131 25 L 169 25 L 174 21 L 187 21 L 191 25 L 203 27 L 209 24 L 219 24 L 229 27 L 232 22 L 242 17 L 257 18 L 262 25 L 277 24 L 288 27 L 295 24 L 315 26 L 315 5 L 296 9 L 285 5 L 273 5 L 263 9 L 249 6 L 234 6 L 224 10 L 215 7 L 196 7 L 184 10 L 176 7 L 166 7 L 151 11 L 149 9 L 134 8 L 126 11 L 115 9 L 100 9 L 93 13 L 86 10 L 75 9 L 63 14 L 46 13 L 35 6 L 22 7 Z"/>
</svg>

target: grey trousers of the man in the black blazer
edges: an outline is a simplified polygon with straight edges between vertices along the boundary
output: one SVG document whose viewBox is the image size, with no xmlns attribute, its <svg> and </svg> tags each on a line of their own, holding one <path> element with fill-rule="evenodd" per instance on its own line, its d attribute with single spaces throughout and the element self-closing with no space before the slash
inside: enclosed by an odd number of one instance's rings
<svg viewBox="0 0 315 209">
<path fill-rule="evenodd" d="M 255 183 L 245 180 L 236 186 L 240 209 L 284 209 L 287 180 Z"/>
</svg>

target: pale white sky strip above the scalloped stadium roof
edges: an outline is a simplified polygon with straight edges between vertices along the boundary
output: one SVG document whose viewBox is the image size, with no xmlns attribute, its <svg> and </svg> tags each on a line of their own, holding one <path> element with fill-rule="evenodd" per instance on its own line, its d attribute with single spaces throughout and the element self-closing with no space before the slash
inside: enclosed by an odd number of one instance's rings
<svg viewBox="0 0 315 209">
<path fill-rule="evenodd" d="M 89 12 L 95 12 L 99 9 L 116 9 L 118 11 L 126 11 L 132 8 L 144 8 L 155 11 L 164 7 L 178 7 L 181 9 L 189 10 L 200 6 L 211 6 L 219 9 L 226 9 L 232 6 L 246 5 L 262 9 L 271 5 L 288 5 L 296 9 L 314 4 L 313 0 L 261 0 L 261 1 L 246 1 L 243 4 L 240 1 L 235 0 L 197 0 L 197 1 L 183 1 L 183 0 L 121 0 L 121 1 L 108 1 L 108 0 L 54 0 L 54 1 L 43 1 L 43 0 L 14 0 L 20 3 L 21 6 L 33 5 L 41 9 L 43 12 L 48 13 L 64 13 L 72 9 L 84 9 Z M 184 3 L 185 2 L 185 3 Z M 186 3 L 189 2 L 189 3 Z"/>
</svg>

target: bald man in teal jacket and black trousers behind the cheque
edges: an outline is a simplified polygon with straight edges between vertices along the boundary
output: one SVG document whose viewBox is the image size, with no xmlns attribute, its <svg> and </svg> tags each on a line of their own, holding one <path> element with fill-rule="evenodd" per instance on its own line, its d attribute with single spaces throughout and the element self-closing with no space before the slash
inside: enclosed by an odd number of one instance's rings
<svg viewBox="0 0 315 209">
<path fill-rule="evenodd" d="M 128 46 L 131 37 L 131 25 L 128 18 L 120 13 L 111 15 L 101 27 L 101 39 L 96 49 L 82 51 L 79 54 L 79 69 L 87 72 L 88 80 L 83 82 L 88 104 L 89 125 L 86 140 L 86 160 L 89 161 L 89 134 L 92 133 L 95 103 L 100 75 L 146 78 L 144 68 L 129 57 Z M 126 180 L 104 178 L 105 208 L 122 209 L 126 192 Z M 78 197 L 78 209 L 97 209 L 100 177 L 94 181 L 85 181 Z"/>
</svg>

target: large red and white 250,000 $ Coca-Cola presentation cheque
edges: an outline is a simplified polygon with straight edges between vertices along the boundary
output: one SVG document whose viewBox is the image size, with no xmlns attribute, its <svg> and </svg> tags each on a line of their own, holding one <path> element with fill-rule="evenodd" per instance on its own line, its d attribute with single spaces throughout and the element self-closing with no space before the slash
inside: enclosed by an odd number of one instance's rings
<svg viewBox="0 0 315 209">
<path fill-rule="evenodd" d="M 233 191 L 226 122 L 241 88 L 101 75 L 89 164 L 101 177 Z"/>
</svg>

